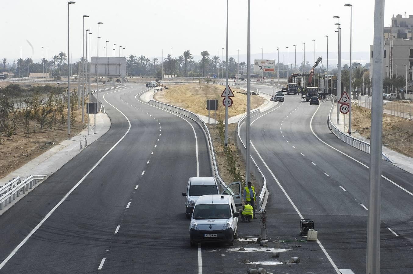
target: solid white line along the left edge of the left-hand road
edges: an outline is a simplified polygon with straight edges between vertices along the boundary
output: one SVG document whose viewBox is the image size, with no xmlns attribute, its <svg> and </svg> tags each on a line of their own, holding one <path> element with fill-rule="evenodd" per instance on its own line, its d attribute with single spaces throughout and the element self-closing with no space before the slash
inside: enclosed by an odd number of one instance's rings
<svg viewBox="0 0 413 274">
<path fill-rule="evenodd" d="M 103 99 L 106 101 L 106 99 L 104 98 L 105 95 L 113 93 L 113 92 L 119 92 L 119 91 L 121 91 L 121 90 L 115 90 L 115 91 L 112 91 L 112 92 L 108 92 L 108 93 L 103 95 Z M 36 230 L 39 229 L 39 227 L 50 217 L 50 215 L 52 215 L 53 212 L 55 212 L 55 210 L 63 203 L 63 201 L 67 199 L 67 197 L 79 186 L 79 184 L 81 184 L 83 182 L 83 180 L 85 180 L 85 178 L 88 177 L 90 172 L 92 172 L 100 164 L 100 162 L 102 162 L 103 159 L 106 158 L 106 156 L 123 140 L 123 138 L 125 138 L 125 136 L 131 130 L 131 121 L 128 119 L 128 117 L 126 117 L 126 115 L 123 114 L 123 112 L 121 112 L 115 106 L 113 106 L 109 102 L 107 102 L 107 103 L 109 105 L 111 105 L 114 109 L 119 111 L 126 118 L 126 120 L 128 121 L 128 124 L 129 124 L 128 130 L 126 130 L 125 134 L 102 156 L 102 158 L 99 159 L 99 161 L 97 161 L 95 163 L 95 165 L 93 165 L 93 167 L 88 172 L 86 172 L 86 174 L 82 177 L 82 179 L 79 182 L 77 182 L 74 185 L 74 187 L 72 187 L 72 189 L 56 204 L 56 206 L 53 207 L 52 210 L 50 210 L 49 213 L 47 213 L 45 217 L 43 217 L 43 219 L 36 225 L 36 227 L 33 228 L 32 231 L 30 231 L 30 233 L 23 239 L 23 241 L 21 241 L 19 243 L 19 245 L 16 248 L 14 248 L 14 250 L 5 258 L 5 260 L 1 262 L 0 269 L 2 269 L 2 267 L 5 266 L 5 264 L 13 257 L 14 254 L 16 254 L 16 252 L 24 245 L 24 243 L 26 243 L 26 241 L 28 239 L 30 239 L 30 237 L 36 232 Z"/>
</svg>

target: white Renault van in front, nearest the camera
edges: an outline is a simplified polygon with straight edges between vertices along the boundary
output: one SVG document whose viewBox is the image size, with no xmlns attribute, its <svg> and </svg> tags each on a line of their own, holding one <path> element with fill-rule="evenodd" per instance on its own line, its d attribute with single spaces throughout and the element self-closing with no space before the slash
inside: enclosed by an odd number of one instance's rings
<svg viewBox="0 0 413 274">
<path fill-rule="evenodd" d="M 200 242 L 223 242 L 234 245 L 238 216 L 232 195 L 215 194 L 199 197 L 191 216 L 189 236 L 191 246 Z"/>
</svg>

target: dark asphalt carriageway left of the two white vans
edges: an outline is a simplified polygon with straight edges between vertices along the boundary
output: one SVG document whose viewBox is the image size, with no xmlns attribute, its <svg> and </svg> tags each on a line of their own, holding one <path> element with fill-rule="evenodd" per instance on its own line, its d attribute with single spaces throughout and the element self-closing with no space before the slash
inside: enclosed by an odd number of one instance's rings
<svg viewBox="0 0 413 274">
<path fill-rule="evenodd" d="M 211 176 L 206 139 L 190 119 L 186 118 L 194 129 L 179 116 L 136 100 L 135 95 L 144 89 L 133 85 L 102 92 L 100 98 L 113 105 L 102 100 L 112 121 L 107 134 L 0 217 L 4 228 L 0 259 L 4 262 L 128 132 L 9 258 L 1 272 L 149 272 L 154 265 L 164 272 L 175 272 L 182 266 L 185 272 L 197 271 L 198 254 L 189 248 L 188 220 L 180 194 L 188 177 L 197 173 Z M 23 210 L 29 215 L 16 218 Z M 187 250 L 180 249 L 184 246 Z"/>
</svg>

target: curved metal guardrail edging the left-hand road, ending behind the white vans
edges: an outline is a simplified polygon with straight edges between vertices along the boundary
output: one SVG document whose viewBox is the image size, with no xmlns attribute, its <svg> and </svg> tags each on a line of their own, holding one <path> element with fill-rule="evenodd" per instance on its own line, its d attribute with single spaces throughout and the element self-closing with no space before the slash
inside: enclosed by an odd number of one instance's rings
<svg viewBox="0 0 413 274">
<path fill-rule="evenodd" d="M 219 182 L 219 184 L 222 188 L 221 191 L 226 189 L 227 185 L 224 183 L 224 181 L 219 176 L 218 166 L 216 164 L 216 159 L 215 159 L 215 154 L 214 154 L 214 145 L 212 144 L 211 135 L 209 134 L 209 129 L 207 127 L 207 124 L 205 124 L 204 120 L 202 120 L 197 114 L 195 114 L 191 111 L 188 111 L 186 109 L 178 108 L 177 106 L 172 106 L 172 105 L 161 103 L 161 102 L 158 102 L 158 101 L 155 101 L 155 100 L 150 100 L 148 103 L 152 104 L 154 106 L 159 106 L 163 109 L 167 109 L 167 110 L 182 114 L 184 116 L 187 116 L 188 118 L 191 118 L 196 123 L 198 123 L 199 126 L 201 126 L 201 128 L 204 130 L 204 134 L 207 137 L 207 141 L 208 141 L 208 150 L 209 150 L 209 158 L 210 158 L 210 162 L 211 162 L 212 173 L 214 174 L 214 177 L 217 180 L 217 182 Z"/>
</svg>

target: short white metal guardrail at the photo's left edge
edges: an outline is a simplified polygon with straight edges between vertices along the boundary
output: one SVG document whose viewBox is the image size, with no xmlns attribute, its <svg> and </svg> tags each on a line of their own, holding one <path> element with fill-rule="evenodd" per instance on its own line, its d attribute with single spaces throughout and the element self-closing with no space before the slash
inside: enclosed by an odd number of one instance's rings
<svg viewBox="0 0 413 274">
<path fill-rule="evenodd" d="M 14 178 L 12 181 L 0 187 L 0 209 L 3 209 L 3 205 L 7 206 L 7 203 L 11 203 L 16 197 L 21 194 L 25 194 L 26 191 L 31 189 L 38 181 L 43 180 L 47 175 L 31 175 L 21 181 L 20 177 Z"/>
</svg>

